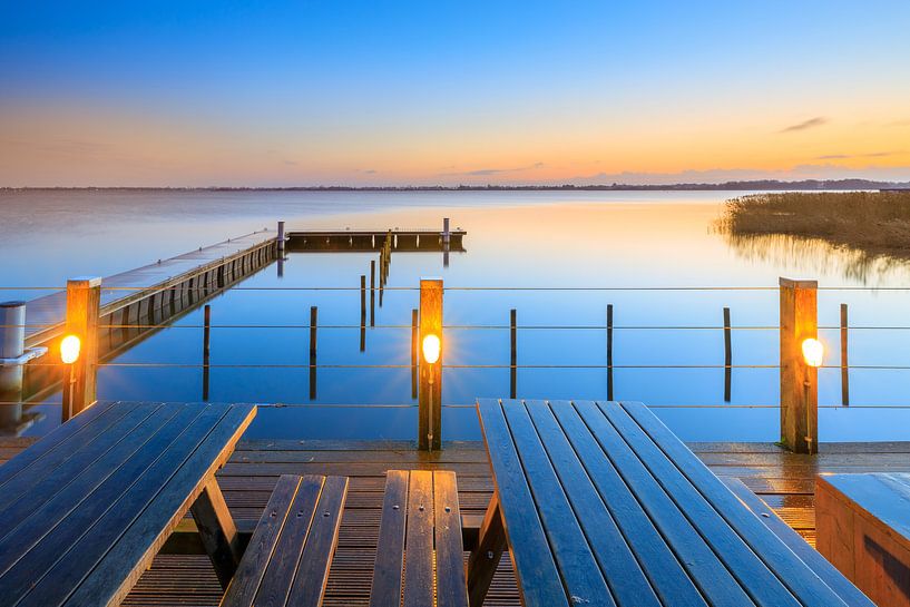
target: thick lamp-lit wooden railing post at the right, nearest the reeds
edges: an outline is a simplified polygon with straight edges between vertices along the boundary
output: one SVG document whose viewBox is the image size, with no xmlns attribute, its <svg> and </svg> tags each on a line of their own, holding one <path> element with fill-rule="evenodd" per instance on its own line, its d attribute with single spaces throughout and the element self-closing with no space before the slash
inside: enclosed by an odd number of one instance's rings
<svg viewBox="0 0 910 607">
<path fill-rule="evenodd" d="M 802 353 L 816 339 L 816 281 L 781 278 L 781 442 L 796 453 L 819 449 L 819 373 Z"/>
</svg>

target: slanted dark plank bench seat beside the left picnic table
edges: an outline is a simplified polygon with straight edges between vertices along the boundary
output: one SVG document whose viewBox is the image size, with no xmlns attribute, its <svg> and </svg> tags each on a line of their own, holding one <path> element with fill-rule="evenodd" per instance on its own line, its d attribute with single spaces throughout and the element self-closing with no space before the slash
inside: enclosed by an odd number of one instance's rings
<svg viewBox="0 0 910 607">
<path fill-rule="evenodd" d="M 222 605 L 322 605 L 346 496 L 345 477 L 282 476 Z"/>
</svg>

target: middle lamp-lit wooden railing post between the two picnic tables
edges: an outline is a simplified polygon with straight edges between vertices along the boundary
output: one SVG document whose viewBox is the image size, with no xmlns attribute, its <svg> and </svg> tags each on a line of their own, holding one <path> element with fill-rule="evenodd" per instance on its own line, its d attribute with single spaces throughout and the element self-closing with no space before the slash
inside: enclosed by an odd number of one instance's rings
<svg viewBox="0 0 910 607">
<path fill-rule="evenodd" d="M 420 345 L 428 335 L 442 342 L 442 278 L 420 281 Z M 418 391 L 418 448 L 432 451 L 442 448 L 442 347 L 436 362 L 429 363 L 420 352 L 420 389 Z"/>
</svg>

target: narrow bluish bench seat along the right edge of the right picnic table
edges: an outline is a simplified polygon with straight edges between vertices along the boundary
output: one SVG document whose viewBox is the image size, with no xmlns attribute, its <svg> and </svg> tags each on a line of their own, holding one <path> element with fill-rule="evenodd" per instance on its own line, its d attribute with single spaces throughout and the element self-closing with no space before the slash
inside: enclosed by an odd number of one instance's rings
<svg viewBox="0 0 910 607">
<path fill-rule="evenodd" d="M 743 481 L 728 479 L 724 481 L 724 484 L 848 605 L 873 607 L 874 604 L 859 588 L 853 586 L 818 550 L 806 544 L 803 537 L 786 525 L 759 496 L 750 491 Z"/>
</svg>

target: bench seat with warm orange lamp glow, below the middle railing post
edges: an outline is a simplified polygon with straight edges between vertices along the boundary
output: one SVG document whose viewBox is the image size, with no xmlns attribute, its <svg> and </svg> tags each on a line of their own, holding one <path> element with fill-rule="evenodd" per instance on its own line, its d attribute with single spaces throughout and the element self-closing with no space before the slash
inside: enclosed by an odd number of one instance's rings
<svg viewBox="0 0 910 607">
<path fill-rule="evenodd" d="M 401 605 L 468 606 L 454 472 L 386 473 L 370 606 Z"/>
</svg>

